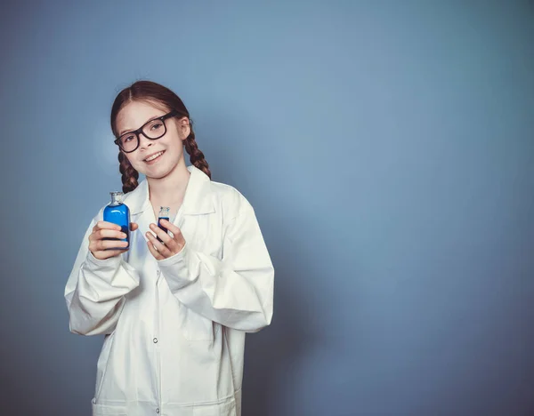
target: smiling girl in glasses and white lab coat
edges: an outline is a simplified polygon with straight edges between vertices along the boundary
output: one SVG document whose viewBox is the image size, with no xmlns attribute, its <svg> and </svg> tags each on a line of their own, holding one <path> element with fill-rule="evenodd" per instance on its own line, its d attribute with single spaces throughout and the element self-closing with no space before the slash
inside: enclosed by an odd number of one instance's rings
<svg viewBox="0 0 534 416">
<path fill-rule="evenodd" d="M 70 331 L 105 335 L 93 415 L 239 416 L 245 334 L 271 324 L 273 307 L 254 209 L 211 180 L 189 112 L 166 87 L 125 88 L 111 130 L 130 246 L 106 250 L 127 243 L 106 239 L 125 234 L 102 220 L 102 206 L 65 287 Z M 162 205 L 175 217 L 162 222 L 169 234 L 156 225 Z"/>
</svg>

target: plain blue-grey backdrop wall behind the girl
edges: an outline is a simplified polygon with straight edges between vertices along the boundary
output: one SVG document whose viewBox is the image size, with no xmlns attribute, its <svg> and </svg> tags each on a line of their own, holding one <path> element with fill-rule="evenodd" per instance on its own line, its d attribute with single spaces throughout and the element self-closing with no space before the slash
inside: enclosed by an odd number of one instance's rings
<svg viewBox="0 0 534 416">
<path fill-rule="evenodd" d="M 0 15 L 2 414 L 90 413 L 102 339 L 69 333 L 63 288 L 141 78 L 185 101 L 277 270 L 244 415 L 534 414 L 531 1 Z"/>
</svg>

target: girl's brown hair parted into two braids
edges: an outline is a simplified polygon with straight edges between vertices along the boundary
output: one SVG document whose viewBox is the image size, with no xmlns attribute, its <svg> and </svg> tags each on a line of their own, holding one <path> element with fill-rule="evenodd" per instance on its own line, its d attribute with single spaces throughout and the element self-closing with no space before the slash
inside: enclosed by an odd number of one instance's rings
<svg viewBox="0 0 534 416">
<path fill-rule="evenodd" d="M 180 97 L 163 85 L 154 83 L 152 81 L 136 81 L 134 84 L 126 87 L 117 94 L 117 98 L 111 107 L 111 131 L 115 137 L 118 137 L 117 132 L 117 115 L 118 112 L 125 107 L 129 102 L 135 100 L 151 101 L 164 105 L 169 111 L 176 110 L 178 116 L 190 117 L 189 111 L 185 108 Z M 202 172 L 211 179 L 211 172 L 209 165 L 206 162 L 204 154 L 198 149 L 197 141 L 195 140 L 195 132 L 193 132 L 192 121 L 190 120 L 190 135 L 184 140 L 185 150 L 190 155 L 191 164 L 195 165 Z M 137 188 L 139 179 L 139 172 L 134 169 L 134 166 L 128 162 L 128 159 L 122 150 L 118 151 L 118 170 L 122 173 L 123 192 L 127 193 Z"/>
</svg>

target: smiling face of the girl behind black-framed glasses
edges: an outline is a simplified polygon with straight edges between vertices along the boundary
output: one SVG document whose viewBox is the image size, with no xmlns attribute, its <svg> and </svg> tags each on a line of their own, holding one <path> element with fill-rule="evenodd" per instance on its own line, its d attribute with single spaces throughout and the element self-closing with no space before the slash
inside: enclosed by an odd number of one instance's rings
<svg viewBox="0 0 534 416">
<path fill-rule="evenodd" d="M 156 103 L 146 101 L 132 101 L 123 107 L 117 115 L 117 132 L 133 132 L 149 120 L 164 116 L 169 109 Z M 161 122 L 163 123 L 163 122 Z M 139 134 L 139 148 L 131 153 L 125 153 L 128 161 L 137 172 L 149 178 L 163 178 L 174 170 L 176 164 L 183 157 L 183 140 L 190 133 L 189 119 L 187 117 L 166 118 L 166 133 L 158 140 L 150 140 Z M 152 156 L 156 159 L 147 160 Z"/>
</svg>

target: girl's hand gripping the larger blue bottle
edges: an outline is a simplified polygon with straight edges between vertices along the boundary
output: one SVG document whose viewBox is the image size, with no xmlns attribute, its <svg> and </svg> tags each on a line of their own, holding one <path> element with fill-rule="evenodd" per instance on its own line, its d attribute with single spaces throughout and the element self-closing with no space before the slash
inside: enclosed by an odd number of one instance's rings
<svg viewBox="0 0 534 416">
<path fill-rule="evenodd" d="M 138 225 L 130 222 L 130 230 L 135 231 Z M 98 221 L 93 227 L 93 232 L 89 236 L 89 251 L 93 256 L 99 260 L 106 260 L 110 257 L 118 256 L 122 252 L 127 252 L 128 249 L 106 250 L 115 247 L 126 247 L 127 241 L 104 240 L 103 238 L 126 238 L 125 233 L 121 232 L 120 226 L 108 221 Z"/>
</svg>

